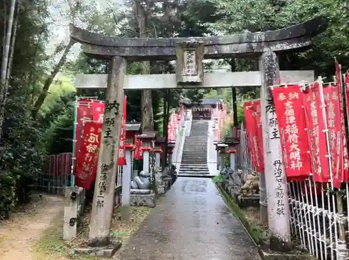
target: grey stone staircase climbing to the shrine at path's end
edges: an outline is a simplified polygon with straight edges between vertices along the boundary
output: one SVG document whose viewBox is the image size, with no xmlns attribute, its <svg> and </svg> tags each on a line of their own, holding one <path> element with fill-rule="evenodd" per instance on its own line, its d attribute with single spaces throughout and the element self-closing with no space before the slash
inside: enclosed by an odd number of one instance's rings
<svg viewBox="0 0 349 260">
<path fill-rule="evenodd" d="M 209 121 L 191 123 L 191 134 L 186 137 L 179 174 L 182 177 L 210 177 L 207 167 L 207 131 Z"/>
</svg>

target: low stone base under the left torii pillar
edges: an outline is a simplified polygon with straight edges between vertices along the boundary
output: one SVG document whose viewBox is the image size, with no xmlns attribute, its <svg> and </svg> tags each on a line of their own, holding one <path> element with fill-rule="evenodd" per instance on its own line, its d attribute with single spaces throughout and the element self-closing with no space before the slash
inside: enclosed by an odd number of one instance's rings
<svg viewBox="0 0 349 260">
<path fill-rule="evenodd" d="M 88 257 L 112 257 L 121 247 L 119 240 L 111 240 L 105 247 L 80 247 L 75 248 L 74 254 L 82 254 Z"/>
</svg>

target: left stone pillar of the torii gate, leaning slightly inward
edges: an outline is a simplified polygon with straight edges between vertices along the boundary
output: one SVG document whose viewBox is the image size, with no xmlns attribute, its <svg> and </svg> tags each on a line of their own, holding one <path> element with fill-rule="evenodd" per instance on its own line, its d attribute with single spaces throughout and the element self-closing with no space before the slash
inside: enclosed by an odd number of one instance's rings
<svg viewBox="0 0 349 260">
<path fill-rule="evenodd" d="M 103 116 L 101 151 L 98 159 L 94 202 L 89 226 L 89 245 L 110 244 L 110 225 L 114 209 L 114 192 L 117 174 L 117 157 L 121 121 L 124 110 L 124 77 L 127 62 L 124 58 L 113 56 L 107 84 L 107 97 Z"/>
</svg>

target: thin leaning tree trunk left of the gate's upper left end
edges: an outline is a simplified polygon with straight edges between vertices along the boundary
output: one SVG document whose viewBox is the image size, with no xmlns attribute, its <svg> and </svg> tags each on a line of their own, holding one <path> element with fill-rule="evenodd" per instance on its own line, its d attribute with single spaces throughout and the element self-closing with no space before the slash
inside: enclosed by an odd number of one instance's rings
<svg viewBox="0 0 349 260">
<path fill-rule="evenodd" d="M 59 70 L 61 70 L 61 67 L 64 66 L 64 62 L 66 62 L 66 56 L 68 55 L 68 52 L 70 51 L 71 47 L 73 47 L 74 43 L 75 43 L 74 40 L 69 41 L 68 45 L 66 45 L 66 49 L 64 49 L 64 53 L 62 54 L 61 59 L 59 59 L 59 62 L 56 64 L 56 66 L 54 66 L 54 70 L 52 70 L 51 75 L 47 77 L 47 79 L 45 80 L 43 91 L 41 91 L 38 99 L 34 104 L 34 109 L 32 111 L 33 118 L 36 118 L 36 116 L 38 115 L 40 107 L 43 105 L 43 102 L 47 97 L 47 93 L 48 93 L 48 90 L 50 89 L 53 79 L 54 77 L 56 77 Z"/>
</svg>

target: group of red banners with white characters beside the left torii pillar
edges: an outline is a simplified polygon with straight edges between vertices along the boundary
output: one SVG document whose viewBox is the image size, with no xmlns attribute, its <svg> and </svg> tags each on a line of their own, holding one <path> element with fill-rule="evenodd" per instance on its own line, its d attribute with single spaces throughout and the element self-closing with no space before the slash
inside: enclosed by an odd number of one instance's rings
<svg viewBox="0 0 349 260">
<path fill-rule="evenodd" d="M 98 155 L 101 147 L 104 102 L 80 99 L 77 102 L 77 123 L 75 133 L 75 185 L 89 189 L 96 179 Z M 119 158 L 117 165 L 126 165 L 126 96 L 121 123 Z M 138 142 L 139 144 L 139 142 Z M 140 149 L 138 148 L 137 151 Z M 139 155 L 139 153 L 138 153 Z"/>
</svg>

